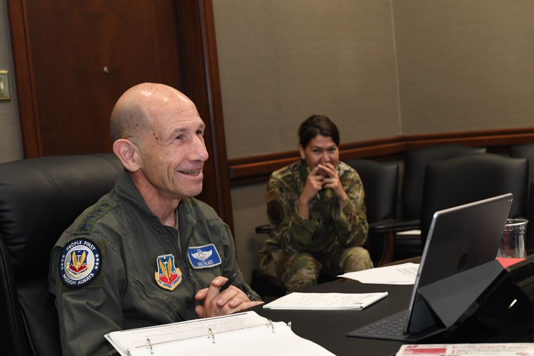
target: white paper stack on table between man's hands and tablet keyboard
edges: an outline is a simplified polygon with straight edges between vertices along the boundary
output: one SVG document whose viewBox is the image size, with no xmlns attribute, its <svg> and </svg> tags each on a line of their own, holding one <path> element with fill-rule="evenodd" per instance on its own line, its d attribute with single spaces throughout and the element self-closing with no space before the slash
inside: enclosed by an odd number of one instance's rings
<svg viewBox="0 0 534 356">
<path fill-rule="evenodd" d="M 289 293 L 264 308 L 302 310 L 361 310 L 386 298 L 388 292 L 379 293 Z"/>
</svg>

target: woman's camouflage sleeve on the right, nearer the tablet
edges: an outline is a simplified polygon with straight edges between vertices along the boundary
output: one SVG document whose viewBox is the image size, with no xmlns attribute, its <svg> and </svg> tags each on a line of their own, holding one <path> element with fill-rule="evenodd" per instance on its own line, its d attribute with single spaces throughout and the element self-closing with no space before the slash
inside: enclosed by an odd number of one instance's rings
<svg viewBox="0 0 534 356">
<path fill-rule="evenodd" d="M 365 244 L 368 232 L 367 214 L 364 204 L 364 187 L 359 175 L 343 177 L 343 188 L 347 193 L 348 200 L 340 211 L 339 205 L 335 205 L 332 211 L 338 238 L 344 246 L 362 246 Z"/>
</svg>

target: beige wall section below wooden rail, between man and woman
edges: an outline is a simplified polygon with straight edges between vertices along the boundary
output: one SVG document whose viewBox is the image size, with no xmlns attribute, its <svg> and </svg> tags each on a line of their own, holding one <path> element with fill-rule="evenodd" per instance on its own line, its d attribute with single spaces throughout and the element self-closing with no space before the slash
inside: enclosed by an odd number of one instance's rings
<svg viewBox="0 0 534 356">
<path fill-rule="evenodd" d="M 269 223 L 265 205 L 266 187 L 265 182 L 232 189 L 235 250 L 239 268 L 247 282 L 250 282 L 252 269 L 260 266 L 258 251 L 268 237 L 254 231 L 256 226 Z"/>
</svg>

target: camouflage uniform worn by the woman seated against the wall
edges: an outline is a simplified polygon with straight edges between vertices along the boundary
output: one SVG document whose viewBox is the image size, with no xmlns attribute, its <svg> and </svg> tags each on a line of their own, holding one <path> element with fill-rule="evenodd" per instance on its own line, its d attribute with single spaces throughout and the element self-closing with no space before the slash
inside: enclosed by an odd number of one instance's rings
<svg viewBox="0 0 534 356">
<path fill-rule="evenodd" d="M 271 233 L 260 251 L 261 272 L 287 292 L 317 284 L 319 273 L 338 275 L 372 268 L 362 246 L 367 238 L 364 188 L 349 165 L 337 165 L 348 200 L 340 211 L 332 189 L 319 192 L 310 204 L 309 219 L 297 211 L 308 177 L 304 160 L 272 173 L 267 185 L 267 214 Z"/>
</svg>

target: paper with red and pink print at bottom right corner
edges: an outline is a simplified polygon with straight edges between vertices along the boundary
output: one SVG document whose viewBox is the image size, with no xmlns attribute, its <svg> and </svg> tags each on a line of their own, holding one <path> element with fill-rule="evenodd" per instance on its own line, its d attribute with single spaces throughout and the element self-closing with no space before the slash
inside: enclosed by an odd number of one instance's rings
<svg viewBox="0 0 534 356">
<path fill-rule="evenodd" d="M 534 355 L 534 343 L 402 345 L 396 356 Z"/>
</svg>

